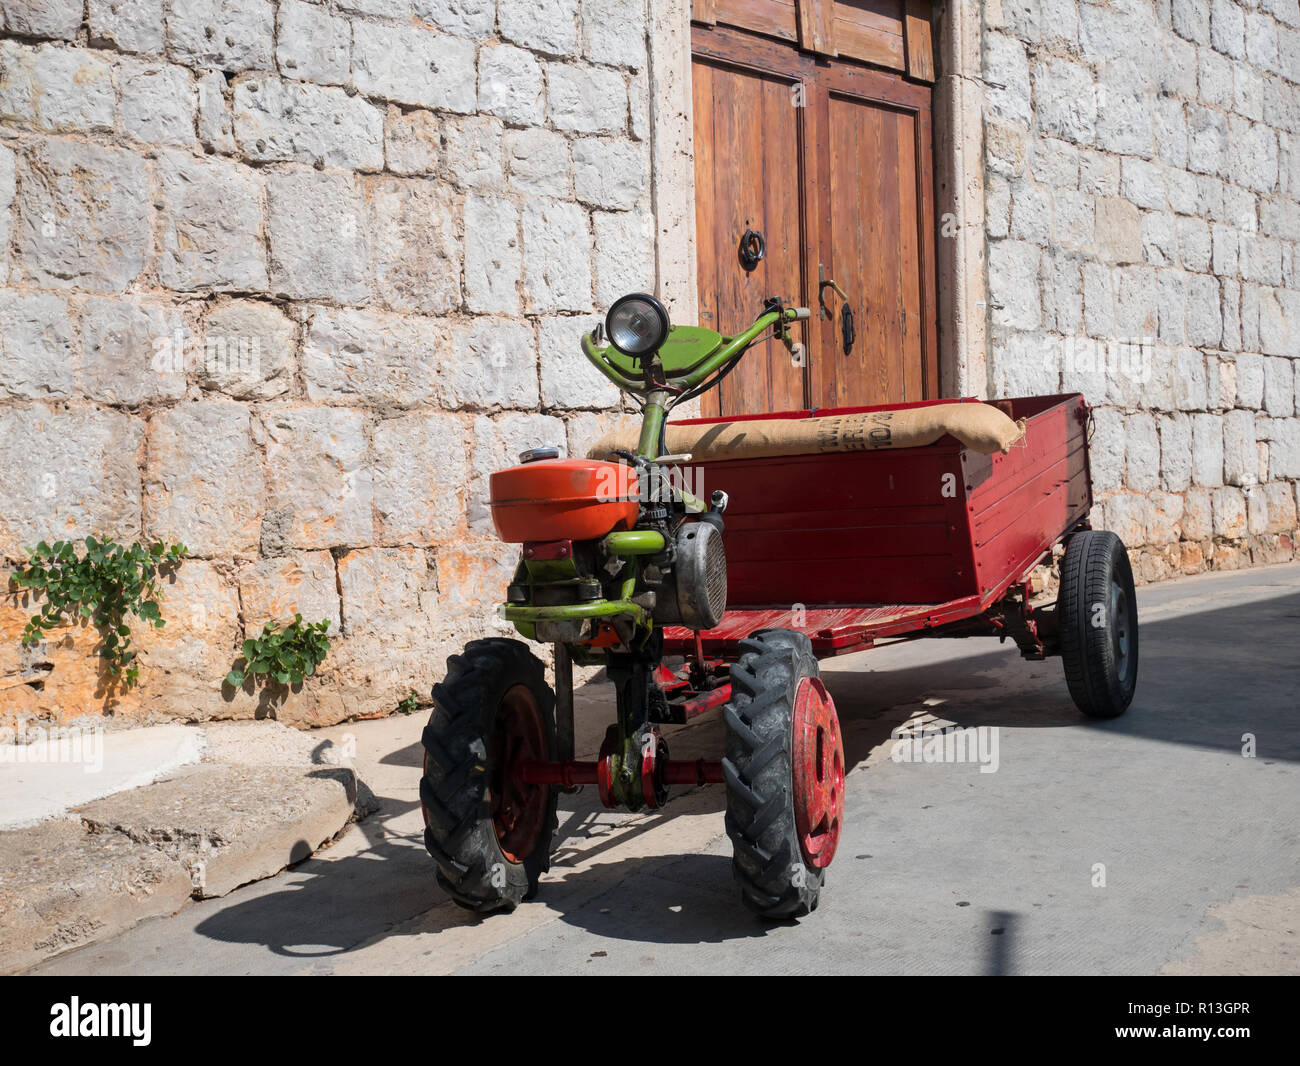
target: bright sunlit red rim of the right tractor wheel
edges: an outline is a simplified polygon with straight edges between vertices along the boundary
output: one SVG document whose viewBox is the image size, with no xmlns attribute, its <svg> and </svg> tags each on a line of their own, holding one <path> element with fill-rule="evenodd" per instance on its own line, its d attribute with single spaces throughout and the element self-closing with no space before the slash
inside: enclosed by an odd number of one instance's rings
<svg viewBox="0 0 1300 1066">
<path fill-rule="evenodd" d="M 835 858 L 844 820 L 844 741 L 835 701 L 819 677 L 794 693 L 794 826 L 803 861 L 823 868 Z"/>
</svg>

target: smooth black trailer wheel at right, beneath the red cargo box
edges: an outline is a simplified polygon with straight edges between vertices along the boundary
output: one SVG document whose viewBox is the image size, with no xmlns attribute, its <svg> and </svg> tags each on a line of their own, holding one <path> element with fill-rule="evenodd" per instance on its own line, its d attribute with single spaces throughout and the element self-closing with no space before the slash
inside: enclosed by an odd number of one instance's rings
<svg viewBox="0 0 1300 1066">
<path fill-rule="evenodd" d="M 1075 705 L 1089 718 L 1118 718 L 1138 688 L 1138 598 L 1128 552 L 1114 533 L 1088 529 L 1070 538 L 1057 619 Z"/>
</svg>

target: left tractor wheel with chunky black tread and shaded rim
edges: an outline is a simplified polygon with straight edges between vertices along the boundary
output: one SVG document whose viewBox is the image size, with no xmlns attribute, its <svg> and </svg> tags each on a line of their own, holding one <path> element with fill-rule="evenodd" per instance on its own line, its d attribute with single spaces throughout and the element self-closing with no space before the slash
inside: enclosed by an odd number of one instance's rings
<svg viewBox="0 0 1300 1066">
<path fill-rule="evenodd" d="M 555 697 L 520 641 L 472 641 L 447 659 L 424 729 L 420 806 L 438 884 L 467 910 L 514 910 L 550 868 L 555 789 L 511 768 L 555 753 Z"/>
</svg>

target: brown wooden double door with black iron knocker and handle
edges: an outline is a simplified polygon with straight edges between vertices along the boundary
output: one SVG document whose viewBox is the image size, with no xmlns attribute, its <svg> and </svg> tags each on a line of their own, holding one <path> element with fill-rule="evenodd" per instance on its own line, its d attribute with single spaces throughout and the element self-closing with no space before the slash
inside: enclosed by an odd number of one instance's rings
<svg viewBox="0 0 1300 1066">
<path fill-rule="evenodd" d="M 793 358 L 755 347 L 706 415 L 937 396 L 933 66 L 918 6 L 696 1 L 701 325 L 736 333 L 768 296 L 815 312 Z M 767 243 L 753 270 L 738 255 L 746 229 Z M 831 289 L 818 311 L 820 277 L 848 294 L 850 334 Z"/>
</svg>

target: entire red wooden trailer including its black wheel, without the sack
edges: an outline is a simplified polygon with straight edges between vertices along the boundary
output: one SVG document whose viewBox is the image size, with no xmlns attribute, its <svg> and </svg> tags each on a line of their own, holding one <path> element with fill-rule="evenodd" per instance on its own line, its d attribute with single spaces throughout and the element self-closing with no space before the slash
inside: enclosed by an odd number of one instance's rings
<svg viewBox="0 0 1300 1066">
<path fill-rule="evenodd" d="M 961 402 L 750 417 L 816 419 Z M 927 447 L 697 464 L 696 494 L 702 485 L 705 494 L 723 489 L 731 498 L 728 606 L 715 629 L 664 632 L 666 654 L 688 660 L 671 677 L 660 671 L 675 716 L 686 720 L 725 702 L 729 685 L 719 681 L 727 663 L 738 658 L 744 640 L 764 629 L 806 634 L 818 658 L 883 640 L 992 634 L 1014 640 L 1026 658 L 1043 659 L 1062 653 L 1063 637 L 1067 680 L 1080 708 L 1119 714 L 1132 696 L 1138 649 L 1132 576 L 1127 556 L 1114 558 L 1118 538 L 1091 534 L 1091 551 L 1062 562 L 1058 602 L 1031 604 L 1031 572 L 1050 562 L 1056 545 L 1088 528 L 1088 404 L 1069 394 L 997 406 L 1026 420 L 1023 439 L 1005 455 L 975 452 L 945 436 Z M 715 421 L 737 419 L 692 424 Z M 1109 568 L 1101 573 L 1093 563 L 1096 588 L 1086 588 L 1089 556 L 1102 554 Z M 1109 641 L 1113 666 L 1128 676 L 1109 694 L 1097 692 L 1102 679 L 1088 673 L 1082 646 L 1088 634 L 1075 624 L 1102 593 L 1113 610 L 1093 612 L 1109 623 L 1095 636 Z"/>
</svg>

